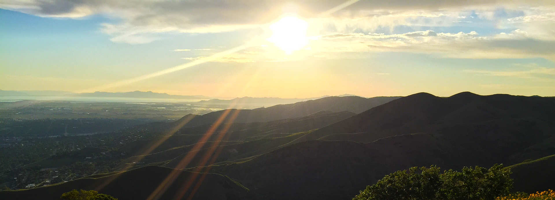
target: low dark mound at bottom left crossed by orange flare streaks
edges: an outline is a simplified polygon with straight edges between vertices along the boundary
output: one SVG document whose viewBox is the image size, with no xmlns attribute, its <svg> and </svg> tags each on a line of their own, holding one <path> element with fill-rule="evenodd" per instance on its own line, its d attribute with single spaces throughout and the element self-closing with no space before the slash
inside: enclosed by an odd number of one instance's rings
<svg viewBox="0 0 555 200">
<path fill-rule="evenodd" d="M 94 189 L 99 193 L 109 194 L 120 200 L 147 199 L 174 169 L 148 166 L 99 178 L 80 178 L 47 187 L 21 189 L 17 191 L 0 191 L 0 199 L 59 199 L 64 192 L 72 189 Z M 158 192 L 154 199 L 174 199 L 186 187 L 189 178 L 199 178 L 202 174 L 177 171 L 175 181 L 166 181 L 168 188 Z M 195 184 L 179 199 L 187 199 Z M 163 190 L 162 190 L 163 191 Z M 191 199 L 248 199 L 249 191 L 228 177 L 209 173 L 204 177 L 200 187 Z"/>
</svg>

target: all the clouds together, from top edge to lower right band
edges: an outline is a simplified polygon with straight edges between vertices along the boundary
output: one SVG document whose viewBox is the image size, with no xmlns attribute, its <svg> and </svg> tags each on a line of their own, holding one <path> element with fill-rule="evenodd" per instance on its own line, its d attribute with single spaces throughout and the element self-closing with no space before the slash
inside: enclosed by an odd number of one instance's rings
<svg viewBox="0 0 555 200">
<path fill-rule="evenodd" d="M 330 53 L 387 51 L 441 54 L 453 58 L 555 60 L 555 1 L 367 0 L 327 16 L 321 15 L 342 3 L 345 1 L 4 0 L 0 8 L 50 18 L 80 19 L 95 14 L 118 18 L 117 23 L 103 23 L 100 28 L 110 35 L 110 40 L 118 43 L 150 43 L 163 33 L 259 29 L 284 12 L 295 12 L 309 22 L 310 54 L 316 57 L 327 57 L 325 54 Z M 403 27 L 405 32 L 399 30 Z M 418 31 L 422 27 L 429 30 Z M 437 31 L 452 27 L 465 31 Z M 481 34 L 482 30 L 478 29 L 503 32 Z M 220 60 L 276 60 L 253 57 L 264 52 L 237 53 Z"/>
</svg>

